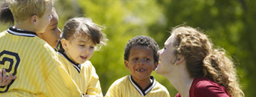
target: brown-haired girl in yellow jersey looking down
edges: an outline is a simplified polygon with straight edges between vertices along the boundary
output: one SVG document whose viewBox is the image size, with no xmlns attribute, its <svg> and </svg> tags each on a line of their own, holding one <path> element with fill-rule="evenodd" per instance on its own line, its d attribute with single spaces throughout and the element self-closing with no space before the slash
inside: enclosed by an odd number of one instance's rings
<svg viewBox="0 0 256 97">
<path fill-rule="evenodd" d="M 89 18 L 69 19 L 63 27 L 58 57 L 84 95 L 102 96 L 99 77 L 89 58 L 95 47 L 106 41 L 100 27 Z"/>
</svg>

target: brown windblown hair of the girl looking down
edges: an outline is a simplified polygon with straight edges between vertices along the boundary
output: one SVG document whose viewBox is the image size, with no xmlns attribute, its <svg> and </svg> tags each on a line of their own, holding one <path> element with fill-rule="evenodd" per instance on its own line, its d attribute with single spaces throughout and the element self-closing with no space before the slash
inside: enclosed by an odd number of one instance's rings
<svg viewBox="0 0 256 97">
<path fill-rule="evenodd" d="M 61 39 L 84 40 L 84 37 L 89 37 L 88 39 L 96 45 L 95 50 L 100 50 L 100 47 L 107 42 L 106 35 L 101 30 L 102 26 L 95 24 L 88 17 L 74 17 L 65 23 Z M 63 47 L 59 47 L 59 50 L 63 51 Z"/>
</svg>

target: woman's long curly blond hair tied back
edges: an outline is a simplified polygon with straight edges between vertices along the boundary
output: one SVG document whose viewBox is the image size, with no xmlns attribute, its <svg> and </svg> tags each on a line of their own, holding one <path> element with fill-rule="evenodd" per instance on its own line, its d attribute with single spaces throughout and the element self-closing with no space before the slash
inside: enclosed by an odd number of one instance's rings
<svg viewBox="0 0 256 97">
<path fill-rule="evenodd" d="M 231 96 L 244 96 L 234 63 L 223 48 L 213 49 L 206 34 L 192 27 L 175 27 L 172 34 L 176 35 L 174 52 L 185 56 L 191 78 L 208 78 L 224 86 Z"/>
</svg>

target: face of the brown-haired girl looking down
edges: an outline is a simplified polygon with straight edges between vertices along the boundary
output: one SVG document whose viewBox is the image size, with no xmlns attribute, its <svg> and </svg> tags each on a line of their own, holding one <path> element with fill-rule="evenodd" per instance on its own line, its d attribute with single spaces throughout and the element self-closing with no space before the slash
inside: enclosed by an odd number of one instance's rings
<svg viewBox="0 0 256 97">
<path fill-rule="evenodd" d="M 92 57 L 94 52 L 94 43 L 90 37 L 85 37 L 84 40 L 79 40 L 80 38 L 72 38 L 71 40 L 65 40 L 66 43 L 62 42 L 63 45 L 66 45 L 65 53 L 74 63 L 84 63 Z M 64 46 L 65 47 L 65 46 Z"/>
</svg>

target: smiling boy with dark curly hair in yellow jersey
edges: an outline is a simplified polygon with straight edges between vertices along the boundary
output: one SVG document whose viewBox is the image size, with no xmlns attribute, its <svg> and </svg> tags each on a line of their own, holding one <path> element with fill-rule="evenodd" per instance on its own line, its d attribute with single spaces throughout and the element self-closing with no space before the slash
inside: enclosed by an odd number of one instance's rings
<svg viewBox="0 0 256 97">
<path fill-rule="evenodd" d="M 167 88 L 158 83 L 151 72 L 158 63 L 159 50 L 150 37 L 136 36 L 125 46 L 125 68 L 131 75 L 115 80 L 106 97 L 169 97 Z"/>
</svg>

